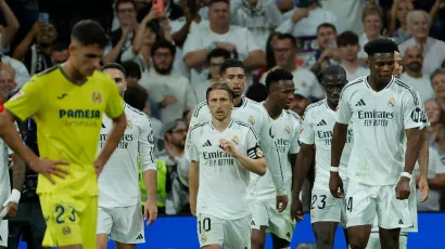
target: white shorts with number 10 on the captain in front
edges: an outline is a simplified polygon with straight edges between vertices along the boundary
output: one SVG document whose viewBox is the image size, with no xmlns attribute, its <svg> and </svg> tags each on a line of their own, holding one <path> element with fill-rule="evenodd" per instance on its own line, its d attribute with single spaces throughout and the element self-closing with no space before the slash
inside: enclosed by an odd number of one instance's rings
<svg viewBox="0 0 445 249">
<path fill-rule="evenodd" d="M 209 214 L 198 215 L 198 236 L 201 248 L 219 245 L 225 249 L 251 249 L 251 215 L 238 220 L 223 220 Z"/>
</svg>

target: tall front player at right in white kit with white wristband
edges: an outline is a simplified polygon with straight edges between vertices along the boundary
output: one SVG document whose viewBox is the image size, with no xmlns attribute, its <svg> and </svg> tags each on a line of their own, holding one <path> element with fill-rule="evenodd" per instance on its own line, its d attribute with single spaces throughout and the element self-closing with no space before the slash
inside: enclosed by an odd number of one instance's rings
<svg viewBox="0 0 445 249">
<path fill-rule="evenodd" d="M 366 248 L 376 215 L 383 249 L 398 248 L 400 227 L 411 225 L 407 198 L 423 114 L 418 93 L 392 76 L 396 50 L 396 43 L 383 38 L 365 45 L 370 75 L 344 87 L 335 116 L 329 188 L 336 198 L 344 196 L 339 165 L 347 124 L 352 122 L 354 130 L 346 192 L 352 249 Z M 400 146 L 404 133 L 405 160 Z"/>
</svg>

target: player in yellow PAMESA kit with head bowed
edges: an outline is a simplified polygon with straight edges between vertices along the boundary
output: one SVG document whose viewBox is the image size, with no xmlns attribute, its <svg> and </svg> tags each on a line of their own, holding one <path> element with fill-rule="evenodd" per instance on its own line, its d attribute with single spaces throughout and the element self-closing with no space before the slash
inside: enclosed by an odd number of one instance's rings
<svg viewBox="0 0 445 249">
<path fill-rule="evenodd" d="M 35 117 L 41 157 L 69 161 L 61 166 L 69 174 L 53 180 L 55 185 L 41 174 L 38 179 L 37 194 L 47 221 L 43 247 L 96 247 L 97 176 L 127 126 L 116 83 L 97 70 L 106 43 L 99 23 L 77 23 L 68 61 L 35 75 L 4 105 L 10 121 Z M 113 120 L 113 128 L 97 156 L 103 114 Z"/>
</svg>

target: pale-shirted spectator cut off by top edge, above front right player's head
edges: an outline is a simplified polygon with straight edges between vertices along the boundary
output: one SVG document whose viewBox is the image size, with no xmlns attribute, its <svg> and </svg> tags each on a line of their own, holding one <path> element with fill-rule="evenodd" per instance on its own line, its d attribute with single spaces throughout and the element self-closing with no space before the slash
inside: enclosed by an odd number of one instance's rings
<svg viewBox="0 0 445 249">
<path fill-rule="evenodd" d="M 336 16 L 338 32 L 351 30 L 355 34 L 364 32 L 361 21 L 363 10 L 368 0 L 320 0 L 323 9 Z"/>
</svg>

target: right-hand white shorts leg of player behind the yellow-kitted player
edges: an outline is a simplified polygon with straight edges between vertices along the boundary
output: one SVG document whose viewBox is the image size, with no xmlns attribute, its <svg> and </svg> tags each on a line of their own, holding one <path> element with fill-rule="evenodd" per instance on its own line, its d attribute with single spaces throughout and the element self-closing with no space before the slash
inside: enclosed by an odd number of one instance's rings
<svg viewBox="0 0 445 249">
<path fill-rule="evenodd" d="M 140 204 L 111 209 L 113 226 L 111 238 L 122 244 L 145 243 L 143 217 Z"/>
</svg>

